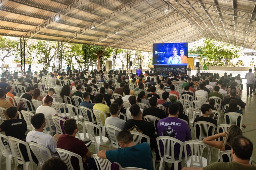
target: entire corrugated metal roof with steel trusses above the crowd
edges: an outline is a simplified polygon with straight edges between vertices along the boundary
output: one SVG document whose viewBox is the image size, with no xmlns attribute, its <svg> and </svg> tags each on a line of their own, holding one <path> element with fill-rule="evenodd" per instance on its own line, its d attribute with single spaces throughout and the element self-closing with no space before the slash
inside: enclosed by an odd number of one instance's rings
<svg viewBox="0 0 256 170">
<path fill-rule="evenodd" d="M 152 51 L 204 37 L 256 49 L 255 0 L 0 0 L 0 35 Z"/>
</svg>

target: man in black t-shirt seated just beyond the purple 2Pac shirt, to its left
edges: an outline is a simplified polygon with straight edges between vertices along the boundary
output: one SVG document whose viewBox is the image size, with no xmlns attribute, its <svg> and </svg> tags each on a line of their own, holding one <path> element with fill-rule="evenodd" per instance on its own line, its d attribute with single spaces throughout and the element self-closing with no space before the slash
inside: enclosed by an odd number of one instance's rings
<svg viewBox="0 0 256 170">
<path fill-rule="evenodd" d="M 159 119 L 166 118 L 165 111 L 157 108 L 157 98 L 155 96 L 151 97 L 148 101 L 151 107 L 143 110 L 143 114 L 142 114 L 143 119 L 144 119 L 144 116 L 147 116 L 147 115 L 155 116 Z M 157 126 L 157 123 L 158 121 L 156 121 L 155 126 Z"/>
</svg>

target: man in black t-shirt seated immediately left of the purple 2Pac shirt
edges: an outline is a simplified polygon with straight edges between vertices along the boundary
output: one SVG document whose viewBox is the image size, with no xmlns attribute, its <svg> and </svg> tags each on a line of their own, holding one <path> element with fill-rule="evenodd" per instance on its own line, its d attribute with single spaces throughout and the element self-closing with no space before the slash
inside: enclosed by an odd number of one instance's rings
<svg viewBox="0 0 256 170">
<path fill-rule="evenodd" d="M 158 148 L 156 144 L 157 135 L 155 135 L 155 126 L 151 122 L 146 122 L 142 119 L 142 112 L 139 105 L 133 104 L 129 111 L 131 112 L 133 119 L 129 119 L 125 122 L 124 129 L 128 131 L 137 131 L 149 136 L 151 150 L 155 148 L 156 160 L 159 162 L 161 158 L 158 154 Z M 146 142 L 146 140 L 142 140 L 142 142 Z"/>
</svg>

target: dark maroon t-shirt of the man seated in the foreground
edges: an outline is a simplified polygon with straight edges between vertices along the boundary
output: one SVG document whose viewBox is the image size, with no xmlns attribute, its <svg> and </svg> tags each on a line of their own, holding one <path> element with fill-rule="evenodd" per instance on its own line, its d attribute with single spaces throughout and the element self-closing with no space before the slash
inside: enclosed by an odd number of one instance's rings
<svg viewBox="0 0 256 170">
<path fill-rule="evenodd" d="M 59 137 L 57 148 L 65 149 L 70 152 L 76 153 L 80 155 L 82 159 L 86 155 L 86 153 L 89 151 L 82 140 L 66 134 L 62 134 Z M 74 169 L 80 169 L 77 158 L 71 157 L 71 163 Z M 84 168 L 86 169 L 87 161 L 83 162 L 83 165 L 84 165 Z"/>
</svg>

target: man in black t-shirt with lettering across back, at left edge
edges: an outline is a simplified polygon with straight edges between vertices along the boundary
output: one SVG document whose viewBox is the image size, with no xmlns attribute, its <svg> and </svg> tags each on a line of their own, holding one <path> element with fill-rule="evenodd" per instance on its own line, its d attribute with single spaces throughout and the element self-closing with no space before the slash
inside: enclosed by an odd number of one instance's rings
<svg viewBox="0 0 256 170">
<path fill-rule="evenodd" d="M 4 131 L 6 136 L 12 136 L 20 140 L 25 140 L 27 123 L 24 119 L 17 119 L 17 108 L 14 106 L 7 108 L 6 114 L 10 120 L 6 120 L 0 125 L 0 131 Z"/>
</svg>

